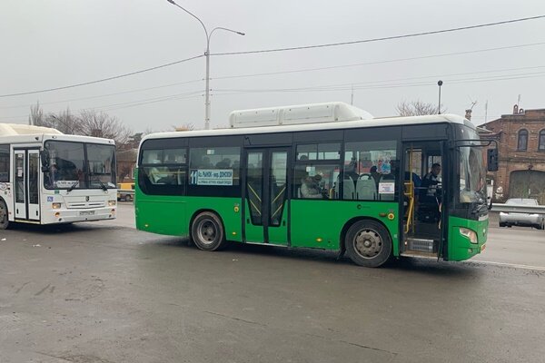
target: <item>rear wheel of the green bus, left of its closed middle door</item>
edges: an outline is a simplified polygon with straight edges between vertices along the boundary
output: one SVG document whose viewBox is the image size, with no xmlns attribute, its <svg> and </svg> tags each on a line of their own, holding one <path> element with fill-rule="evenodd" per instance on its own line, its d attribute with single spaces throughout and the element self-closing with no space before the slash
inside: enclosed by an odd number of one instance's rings
<svg viewBox="0 0 545 363">
<path fill-rule="evenodd" d="M 221 250 L 226 245 L 222 220 L 212 211 L 203 211 L 195 217 L 191 237 L 200 250 Z"/>
</svg>

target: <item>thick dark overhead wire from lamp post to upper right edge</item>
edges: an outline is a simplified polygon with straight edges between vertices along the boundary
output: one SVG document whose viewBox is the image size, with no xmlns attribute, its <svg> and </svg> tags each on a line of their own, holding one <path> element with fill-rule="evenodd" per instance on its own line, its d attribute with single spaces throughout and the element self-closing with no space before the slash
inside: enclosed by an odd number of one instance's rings
<svg viewBox="0 0 545 363">
<path fill-rule="evenodd" d="M 501 21 L 501 22 L 486 23 L 486 24 L 479 24 L 479 25 L 459 26 L 459 27 L 456 27 L 456 28 L 449 28 L 449 29 L 442 29 L 442 30 L 432 30 L 432 31 L 429 31 L 429 32 L 421 32 L 421 33 L 382 36 L 380 38 L 354 40 L 354 41 L 351 41 L 351 42 L 303 45 L 303 46 L 293 46 L 293 47 L 288 47 L 288 48 L 262 49 L 262 50 L 256 50 L 256 51 L 214 53 L 214 54 L 210 54 L 210 55 L 239 55 L 239 54 L 259 54 L 259 53 L 272 53 L 272 52 L 286 52 L 286 51 L 299 51 L 299 50 L 303 50 L 303 49 L 325 48 L 325 47 L 330 47 L 330 46 L 381 42 L 381 41 L 385 41 L 385 40 L 411 38 L 411 37 L 421 36 L 421 35 L 451 33 L 451 32 L 459 32 L 461 30 L 484 28 L 484 27 L 488 27 L 488 26 L 520 23 L 520 22 L 525 22 L 525 21 L 528 21 L 528 20 L 537 20 L 537 19 L 541 19 L 541 18 L 544 18 L 544 17 L 545 17 L 545 15 L 528 16 L 528 17 L 521 17 L 521 18 L 518 18 L 518 19 L 504 20 L 504 21 Z"/>
</svg>

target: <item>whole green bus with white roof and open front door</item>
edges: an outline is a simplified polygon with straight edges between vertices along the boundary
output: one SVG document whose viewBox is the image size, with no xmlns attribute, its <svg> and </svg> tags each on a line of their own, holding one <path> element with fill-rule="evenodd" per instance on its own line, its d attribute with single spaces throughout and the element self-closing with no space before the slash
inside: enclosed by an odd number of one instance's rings
<svg viewBox="0 0 545 363">
<path fill-rule="evenodd" d="M 317 103 L 236 111 L 230 122 L 144 138 L 138 230 L 189 236 L 201 250 L 335 250 L 367 267 L 467 260 L 485 248 L 487 163 L 497 168 L 497 149 L 487 157 L 460 116 L 372 118 Z"/>
</svg>

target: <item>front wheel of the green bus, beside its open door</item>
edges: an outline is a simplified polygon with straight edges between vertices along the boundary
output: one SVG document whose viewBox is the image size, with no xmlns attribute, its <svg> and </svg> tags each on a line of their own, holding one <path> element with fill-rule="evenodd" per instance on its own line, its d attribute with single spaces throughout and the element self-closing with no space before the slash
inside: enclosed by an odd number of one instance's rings
<svg viewBox="0 0 545 363">
<path fill-rule="evenodd" d="M 391 237 L 378 221 L 357 221 L 346 232 L 348 257 L 364 267 L 379 267 L 391 257 Z"/>
</svg>

